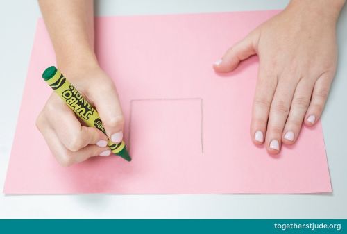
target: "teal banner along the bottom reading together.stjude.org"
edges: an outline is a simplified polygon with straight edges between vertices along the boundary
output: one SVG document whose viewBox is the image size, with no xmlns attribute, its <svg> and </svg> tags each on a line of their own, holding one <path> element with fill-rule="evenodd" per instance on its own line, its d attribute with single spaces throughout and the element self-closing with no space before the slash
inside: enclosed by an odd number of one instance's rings
<svg viewBox="0 0 347 234">
<path fill-rule="evenodd" d="M 347 233 L 346 219 L 3 219 L 0 233 Z"/>
</svg>

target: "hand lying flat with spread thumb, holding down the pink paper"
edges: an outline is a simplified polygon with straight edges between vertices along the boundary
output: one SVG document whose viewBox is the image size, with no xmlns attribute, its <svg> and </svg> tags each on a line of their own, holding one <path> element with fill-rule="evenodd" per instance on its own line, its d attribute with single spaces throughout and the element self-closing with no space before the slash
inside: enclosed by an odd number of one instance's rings
<svg viewBox="0 0 347 234">
<path fill-rule="evenodd" d="M 337 65 L 339 9 L 333 5 L 292 1 L 214 63 L 217 72 L 231 72 L 259 56 L 251 137 L 269 153 L 279 153 L 282 142 L 293 144 L 303 122 L 312 126 L 321 117 Z"/>
</svg>

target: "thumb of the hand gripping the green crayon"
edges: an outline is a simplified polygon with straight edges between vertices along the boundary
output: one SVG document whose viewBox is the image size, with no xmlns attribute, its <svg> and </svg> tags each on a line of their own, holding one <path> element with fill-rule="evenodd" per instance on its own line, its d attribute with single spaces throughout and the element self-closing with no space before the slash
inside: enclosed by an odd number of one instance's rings
<svg viewBox="0 0 347 234">
<path fill-rule="evenodd" d="M 101 78 L 88 90 L 96 110 L 99 112 L 108 138 L 119 143 L 123 139 L 124 116 L 115 85 L 110 78 Z"/>
</svg>

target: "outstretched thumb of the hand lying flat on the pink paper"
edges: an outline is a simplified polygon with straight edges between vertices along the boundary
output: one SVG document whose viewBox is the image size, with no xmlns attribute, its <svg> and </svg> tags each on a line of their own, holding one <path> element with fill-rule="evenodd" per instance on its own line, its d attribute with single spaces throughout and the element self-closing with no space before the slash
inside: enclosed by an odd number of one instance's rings
<svg viewBox="0 0 347 234">
<path fill-rule="evenodd" d="M 214 70 L 216 72 L 232 72 L 232 70 L 239 65 L 239 62 L 257 53 L 255 49 L 255 42 L 257 42 L 257 40 L 255 39 L 254 34 L 251 33 L 246 36 L 244 40 L 241 40 L 233 47 L 230 47 L 221 59 L 214 62 Z"/>
</svg>

